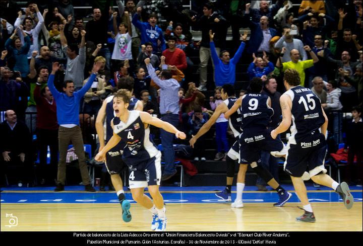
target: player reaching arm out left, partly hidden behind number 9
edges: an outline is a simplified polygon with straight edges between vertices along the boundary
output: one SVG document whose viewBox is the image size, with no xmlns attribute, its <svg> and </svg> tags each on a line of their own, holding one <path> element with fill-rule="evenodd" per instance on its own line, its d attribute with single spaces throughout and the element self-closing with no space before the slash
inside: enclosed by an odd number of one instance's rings
<svg viewBox="0 0 363 246">
<path fill-rule="evenodd" d="M 225 113 L 230 109 L 234 102 L 237 100 L 234 97 L 234 88 L 232 85 L 223 85 L 221 90 L 221 97 L 224 100 L 222 104 L 218 105 L 216 110 L 214 111 L 211 118 L 199 129 L 197 134 L 193 136 L 189 143 L 192 147 L 194 147 L 195 142 L 200 138 L 203 134 L 209 131 L 211 126 L 217 121 L 217 119 L 220 117 L 221 114 Z M 227 182 L 226 182 L 226 188 L 222 192 L 217 192 L 215 195 L 221 199 L 223 199 L 226 202 L 231 201 L 231 187 L 233 183 L 233 177 L 234 177 L 234 161 L 239 158 L 239 143 L 238 143 L 238 136 L 241 133 L 240 130 L 240 112 L 236 112 L 229 118 L 229 127 L 232 130 L 234 137 L 236 138 L 236 141 L 234 142 L 233 146 L 229 149 L 227 156 L 226 156 L 226 163 L 227 163 Z M 243 174 L 246 174 L 247 168 L 246 165 L 240 165 L 239 171 L 237 175 L 237 186 L 240 186 L 239 184 L 245 186 L 245 178 Z M 242 189 L 243 190 L 243 189 Z"/>
</svg>

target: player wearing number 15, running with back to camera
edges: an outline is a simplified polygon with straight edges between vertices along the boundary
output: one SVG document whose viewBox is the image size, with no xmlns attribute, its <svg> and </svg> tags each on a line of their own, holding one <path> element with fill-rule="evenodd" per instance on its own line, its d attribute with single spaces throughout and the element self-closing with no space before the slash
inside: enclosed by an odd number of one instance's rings
<svg viewBox="0 0 363 246">
<path fill-rule="evenodd" d="M 328 118 L 319 98 L 310 89 L 299 85 L 298 72 L 287 69 L 284 73 L 284 86 L 287 91 L 280 98 L 282 122 L 271 131 L 271 137 L 276 138 L 279 133 L 285 132 L 292 122 L 284 170 L 290 175 L 296 194 L 305 210 L 305 213 L 296 220 L 315 222 L 304 180 L 312 179 L 315 183 L 334 189 L 343 199 L 347 209 L 353 205 L 353 196 L 345 182 L 339 185 L 326 174 L 324 158 L 327 148 L 325 134 Z"/>
</svg>

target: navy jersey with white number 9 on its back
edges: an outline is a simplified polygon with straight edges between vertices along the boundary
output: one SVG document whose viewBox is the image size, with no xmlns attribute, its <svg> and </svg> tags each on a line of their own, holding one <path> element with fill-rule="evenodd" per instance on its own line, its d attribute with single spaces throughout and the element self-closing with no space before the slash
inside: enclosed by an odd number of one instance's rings
<svg viewBox="0 0 363 246">
<path fill-rule="evenodd" d="M 267 104 L 268 96 L 264 94 L 246 94 L 241 104 L 242 128 L 265 128 L 274 114 Z"/>
</svg>

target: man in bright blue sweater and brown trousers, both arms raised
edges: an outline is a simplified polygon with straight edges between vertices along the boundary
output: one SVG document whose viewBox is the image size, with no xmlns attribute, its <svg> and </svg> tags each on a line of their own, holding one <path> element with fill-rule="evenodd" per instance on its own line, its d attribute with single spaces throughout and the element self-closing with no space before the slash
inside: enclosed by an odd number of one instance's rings
<svg viewBox="0 0 363 246">
<path fill-rule="evenodd" d="M 85 153 L 83 149 L 83 137 L 79 122 L 80 101 L 91 88 L 98 70 L 102 63 L 96 62 L 92 68 L 92 74 L 87 84 L 79 91 L 75 92 L 72 80 L 66 80 L 63 85 L 65 93 L 58 92 L 54 87 L 54 75 L 59 69 L 59 63 L 54 62 L 52 71 L 48 78 L 49 91 L 53 94 L 57 104 L 57 120 L 59 124 L 58 141 L 59 141 L 59 162 L 57 174 L 57 186 L 54 191 L 64 191 L 66 182 L 66 156 L 70 142 L 72 142 L 79 161 L 82 182 L 85 185 L 85 191 L 95 192 L 91 185 L 88 169 L 85 161 Z"/>
</svg>

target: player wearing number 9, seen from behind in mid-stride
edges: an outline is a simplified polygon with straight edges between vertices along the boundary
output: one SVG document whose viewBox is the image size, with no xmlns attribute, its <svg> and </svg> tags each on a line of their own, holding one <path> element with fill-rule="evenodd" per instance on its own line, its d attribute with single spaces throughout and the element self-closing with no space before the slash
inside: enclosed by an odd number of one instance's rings
<svg viewBox="0 0 363 246">
<path fill-rule="evenodd" d="M 283 189 L 271 173 L 261 165 L 260 156 L 262 150 L 269 151 L 276 157 L 284 156 L 286 147 L 280 139 L 272 139 L 267 129 L 273 109 L 270 98 L 261 94 L 262 88 L 262 79 L 253 78 L 250 82 L 250 93 L 238 98 L 233 107 L 224 114 L 224 117 L 228 119 L 234 112 L 240 110 L 243 133 L 239 135 L 239 163 L 246 167 L 244 176 L 247 165 L 251 164 L 256 174 L 277 191 L 279 201 L 274 206 L 281 207 L 290 199 L 291 194 Z M 237 186 L 237 194 L 238 192 Z M 234 201 L 236 205 L 242 203 L 238 198 Z"/>
</svg>

